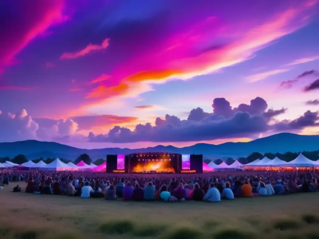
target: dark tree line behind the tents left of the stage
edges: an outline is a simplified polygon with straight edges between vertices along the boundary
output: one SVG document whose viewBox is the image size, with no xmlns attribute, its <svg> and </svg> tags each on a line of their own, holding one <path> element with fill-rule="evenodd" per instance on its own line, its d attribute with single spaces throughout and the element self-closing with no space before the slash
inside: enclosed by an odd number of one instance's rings
<svg viewBox="0 0 319 239">
<path fill-rule="evenodd" d="M 42 157 L 37 158 L 32 160 L 33 163 L 39 163 L 40 161 L 43 161 L 46 164 L 52 163 L 56 158 L 47 158 L 44 159 Z M 103 158 L 99 158 L 97 160 L 95 160 L 93 162 L 93 160 L 90 158 L 90 156 L 88 156 L 87 154 L 81 154 L 80 156 L 77 157 L 77 159 L 75 161 L 69 160 L 69 159 L 65 159 L 65 158 L 59 158 L 63 163 L 74 163 L 77 164 L 81 161 L 83 161 L 84 163 L 90 165 L 91 163 L 94 163 L 95 165 L 99 166 L 102 163 L 104 163 L 106 160 Z M 19 154 L 17 156 L 15 156 L 14 158 L 9 158 L 9 157 L 0 157 L 0 163 L 4 163 L 5 161 L 10 161 L 12 163 L 17 163 L 17 164 L 22 164 L 22 163 L 26 163 L 28 162 L 28 159 L 26 158 L 25 155 L 23 154 Z"/>
</svg>

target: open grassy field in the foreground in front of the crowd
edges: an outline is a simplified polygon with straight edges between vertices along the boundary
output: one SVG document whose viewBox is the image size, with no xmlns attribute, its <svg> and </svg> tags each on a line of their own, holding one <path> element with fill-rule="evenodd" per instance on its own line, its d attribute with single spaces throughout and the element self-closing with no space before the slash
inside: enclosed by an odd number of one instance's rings
<svg viewBox="0 0 319 239">
<path fill-rule="evenodd" d="M 13 193 L 15 185 L 0 191 L 0 238 L 319 238 L 319 193 L 123 202 Z"/>
</svg>

